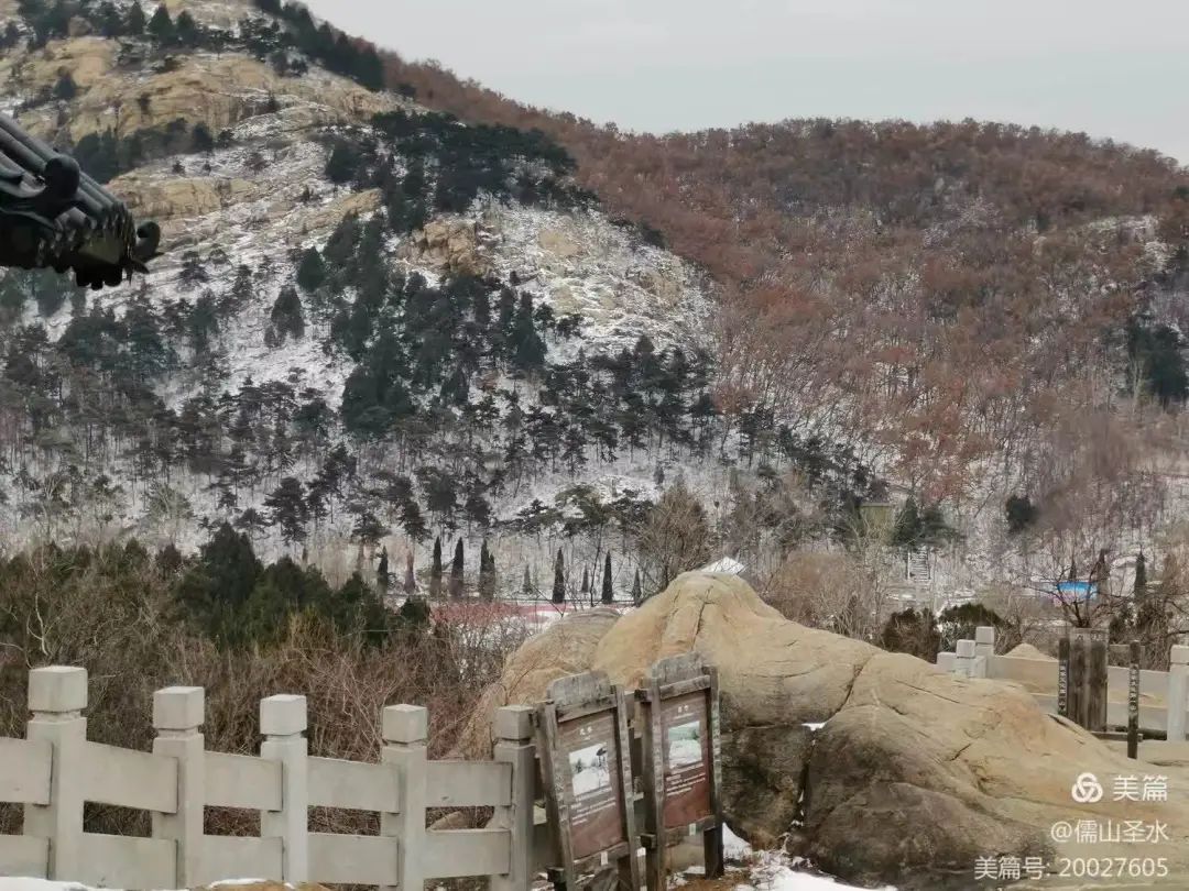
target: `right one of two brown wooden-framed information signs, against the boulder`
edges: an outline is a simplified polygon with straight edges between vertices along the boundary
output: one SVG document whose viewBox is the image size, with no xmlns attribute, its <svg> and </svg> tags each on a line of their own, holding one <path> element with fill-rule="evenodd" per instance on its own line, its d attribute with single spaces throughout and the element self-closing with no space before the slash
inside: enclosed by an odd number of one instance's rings
<svg viewBox="0 0 1189 891">
<path fill-rule="evenodd" d="M 718 672 L 697 653 L 655 663 L 636 690 L 644 781 L 644 874 L 663 891 L 667 849 L 702 835 L 706 878 L 723 874 Z"/>
</svg>

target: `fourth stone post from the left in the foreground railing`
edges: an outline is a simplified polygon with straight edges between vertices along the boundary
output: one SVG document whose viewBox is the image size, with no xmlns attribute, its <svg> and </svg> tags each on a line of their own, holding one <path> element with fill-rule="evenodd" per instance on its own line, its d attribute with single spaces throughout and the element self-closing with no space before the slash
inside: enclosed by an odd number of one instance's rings
<svg viewBox="0 0 1189 891">
<path fill-rule="evenodd" d="M 426 840 L 426 760 L 429 713 L 421 706 L 389 706 L 383 720 L 384 750 L 380 760 L 396 766 L 401 811 L 382 814 L 380 835 L 397 839 L 401 891 L 423 891 L 421 853 Z"/>
</svg>

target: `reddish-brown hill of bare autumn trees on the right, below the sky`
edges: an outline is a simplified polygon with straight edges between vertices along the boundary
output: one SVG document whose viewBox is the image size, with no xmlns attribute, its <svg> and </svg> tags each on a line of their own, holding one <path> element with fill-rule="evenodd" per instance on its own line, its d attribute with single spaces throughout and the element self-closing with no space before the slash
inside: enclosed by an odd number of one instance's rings
<svg viewBox="0 0 1189 891">
<path fill-rule="evenodd" d="M 428 105 L 556 138 L 612 213 L 711 273 L 724 412 L 828 431 L 982 518 L 976 538 L 1027 500 L 1067 564 L 1071 535 L 1093 558 L 1151 532 L 1179 485 L 1189 176 L 1171 159 L 975 121 L 624 134 L 384 58 Z"/>
</svg>

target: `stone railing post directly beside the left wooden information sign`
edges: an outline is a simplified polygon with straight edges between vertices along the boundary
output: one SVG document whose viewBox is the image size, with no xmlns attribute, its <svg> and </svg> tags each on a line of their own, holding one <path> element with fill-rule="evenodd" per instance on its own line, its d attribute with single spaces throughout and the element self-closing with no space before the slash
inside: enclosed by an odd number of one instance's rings
<svg viewBox="0 0 1189 891">
<path fill-rule="evenodd" d="M 533 794 L 536 770 L 533 708 L 505 706 L 496 712 L 493 758 L 512 765 L 512 803 L 496 808 L 491 826 L 511 833 L 511 867 L 491 877 L 491 891 L 528 891 L 533 884 Z"/>
</svg>

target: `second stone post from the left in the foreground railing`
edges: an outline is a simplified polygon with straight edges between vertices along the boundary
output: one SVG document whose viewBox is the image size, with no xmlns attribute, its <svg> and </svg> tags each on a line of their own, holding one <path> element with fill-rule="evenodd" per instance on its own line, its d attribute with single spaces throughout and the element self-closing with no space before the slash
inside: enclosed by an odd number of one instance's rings
<svg viewBox="0 0 1189 891">
<path fill-rule="evenodd" d="M 166 687 L 152 695 L 155 754 L 177 760 L 177 810 L 152 815 L 152 836 L 177 845 L 176 887 L 207 880 L 202 872 L 202 808 L 206 804 L 206 753 L 199 728 L 205 720 L 201 687 Z"/>
</svg>

